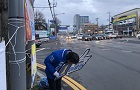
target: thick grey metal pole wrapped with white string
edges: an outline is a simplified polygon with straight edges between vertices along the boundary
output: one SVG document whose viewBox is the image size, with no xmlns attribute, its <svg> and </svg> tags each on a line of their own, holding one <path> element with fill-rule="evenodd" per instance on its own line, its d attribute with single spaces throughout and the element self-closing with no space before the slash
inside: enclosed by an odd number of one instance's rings
<svg viewBox="0 0 140 90">
<path fill-rule="evenodd" d="M 9 0 L 10 90 L 26 90 L 24 0 Z"/>
</svg>

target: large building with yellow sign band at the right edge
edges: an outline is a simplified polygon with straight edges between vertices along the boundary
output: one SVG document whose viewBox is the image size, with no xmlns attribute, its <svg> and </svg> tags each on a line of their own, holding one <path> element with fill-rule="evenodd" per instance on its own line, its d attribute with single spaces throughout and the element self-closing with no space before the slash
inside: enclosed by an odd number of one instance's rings
<svg viewBox="0 0 140 90">
<path fill-rule="evenodd" d="M 140 30 L 140 8 L 135 8 L 112 18 L 113 29 L 120 35 L 136 36 Z"/>
</svg>

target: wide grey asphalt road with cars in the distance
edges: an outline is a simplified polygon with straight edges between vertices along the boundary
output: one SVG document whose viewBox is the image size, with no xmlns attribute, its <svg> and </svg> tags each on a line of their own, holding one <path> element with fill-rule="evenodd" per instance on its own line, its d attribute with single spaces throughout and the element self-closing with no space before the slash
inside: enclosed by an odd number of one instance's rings
<svg viewBox="0 0 140 90">
<path fill-rule="evenodd" d="M 60 39 L 43 44 L 37 62 L 43 63 L 51 51 L 69 48 L 79 55 L 91 49 L 92 58 L 80 71 L 69 75 L 87 90 L 140 90 L 140 41 L 116 39 L 80 41 Z M 64 90 L 68 85 L 63 83 Z M 65 89 L 66 88 L 66 89 Z"/>
</svg>

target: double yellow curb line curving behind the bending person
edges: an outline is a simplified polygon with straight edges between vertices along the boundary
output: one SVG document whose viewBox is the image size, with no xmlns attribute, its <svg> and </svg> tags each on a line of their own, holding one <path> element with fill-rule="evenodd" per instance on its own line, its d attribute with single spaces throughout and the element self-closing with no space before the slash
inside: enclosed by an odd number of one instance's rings
<svg viewBox="0 0 140 90">
<path fill-rule="evenodd" d="M 37 63 L 37 66 L 39 68 L 45 69 L 46 67 L 42 64 Z M 72 87 L 74 90 L 87 90 L 86 88 L 84 88 L 82 85 L 80 85 L 78 82 L 76 82 L 75 80 L 73 80 L 72 78 L 68 77 L 68 76 L 64 76 L 62 77 L 62 80 L 64 82 L 66 82 L 70 87 Z"/>
</svg>

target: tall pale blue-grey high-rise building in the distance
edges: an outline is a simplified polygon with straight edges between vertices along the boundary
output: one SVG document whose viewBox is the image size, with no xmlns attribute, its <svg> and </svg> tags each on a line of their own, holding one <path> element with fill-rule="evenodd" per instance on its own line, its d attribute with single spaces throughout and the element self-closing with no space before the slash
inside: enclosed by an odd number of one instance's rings
<svg viewBox="0 0 140 90">
<path fill-rule="evenodd" d="M 80 16 L 79 14 L 75 14 L 73 21 L 74 21 L 74 30 L 79 31 L 84 23 L 89 23 L 89 16 Z"/>
</svg>

